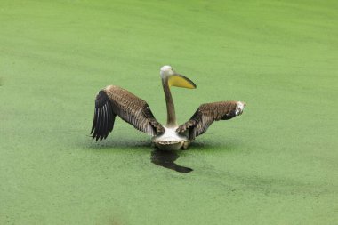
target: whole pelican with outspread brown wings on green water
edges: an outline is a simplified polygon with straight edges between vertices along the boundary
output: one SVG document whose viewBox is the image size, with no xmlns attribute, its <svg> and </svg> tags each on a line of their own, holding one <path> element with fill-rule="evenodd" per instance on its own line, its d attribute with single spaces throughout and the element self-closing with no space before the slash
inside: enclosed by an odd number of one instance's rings
<svg viewBox="0 0 338 225">
<path fill-rule="evenodd" d="M 186 123 L 178 125 L 170 88 L 176 86 L 195 89 L 196 84 L 188 77 L 176 73 L 170 66 L 162 67 L 160 76 L 165 92 L 166 125 L 157 121 L 146 101 L 121 87 L 109 85 L 96 95 L 91 131 L 93 140 L 106 139 L 113 131 L 118 116 L 137 130 L 153 136 L 152 143 L 158 149 L 188 149 L 190 142 L 205 133 L 213 121 L 239 116 L 245 108 L 244 102 L 235 100 L 202 104 Z"/>
</svg>

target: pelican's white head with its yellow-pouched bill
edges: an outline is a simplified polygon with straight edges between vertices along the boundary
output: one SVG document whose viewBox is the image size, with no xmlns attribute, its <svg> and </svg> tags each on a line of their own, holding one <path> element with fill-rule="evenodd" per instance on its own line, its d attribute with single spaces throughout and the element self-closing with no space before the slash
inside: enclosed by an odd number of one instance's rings
<svg viewBox="0 0 338 225">
<path fill-rule="evenodd" d="M 171 66 L 163 66 L 160 70 L 162 80 L 168 84 L 169 87 L 184 87 L 189 89 L 195 89 L 196 84 L 192 82 L 188 77 L 176 73 Z"/>
</svg>

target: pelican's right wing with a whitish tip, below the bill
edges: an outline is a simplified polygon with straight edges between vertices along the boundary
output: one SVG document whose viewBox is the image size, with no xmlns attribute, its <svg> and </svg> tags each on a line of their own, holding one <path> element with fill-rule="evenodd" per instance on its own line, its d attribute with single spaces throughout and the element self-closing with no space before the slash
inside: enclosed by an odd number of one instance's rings
<svg viewBox="0 0 338 225">
<path fill-rule="evenodd" d="M 205 133 L 213 121 L 228 120 L 242 114 L 245 103 L 241 101 L 220 101 L 206 103 L 197 108 L 195 114 L 176 132 L 189 134 L 189 140 L 194 140 L 198 135 Z"/>
</svg>

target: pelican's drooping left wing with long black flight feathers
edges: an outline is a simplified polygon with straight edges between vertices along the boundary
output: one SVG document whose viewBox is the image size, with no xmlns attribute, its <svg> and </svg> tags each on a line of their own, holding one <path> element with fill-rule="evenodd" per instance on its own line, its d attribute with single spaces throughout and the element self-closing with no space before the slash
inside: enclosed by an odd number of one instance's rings
<svg viewBox="0 0 338 225">
<path fill-rule="evenodd" d="M 165 132 L 165 128 L 157 122 L 146 101 L 123 88 L 110 85 L 96 96 L 91 131 L 93 139 L 106 139 L 113 130 L 116 116 L 152 136 Z"/>
</svg>

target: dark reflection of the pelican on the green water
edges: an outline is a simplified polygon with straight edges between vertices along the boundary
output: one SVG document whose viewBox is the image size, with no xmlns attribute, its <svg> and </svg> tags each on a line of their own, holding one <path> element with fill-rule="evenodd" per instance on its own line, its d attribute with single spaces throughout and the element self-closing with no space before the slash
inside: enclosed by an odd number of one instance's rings
<svg viewBox="0 0 338 225">
<path fill-rule="evenodd" d="M 155 149 L 151 152 L 151 162 L 180 173 L 189 173 L 191 168 L 177 165 L 174 161 L 179 157 L 175 151 L 162 151 Z"/>
</svg>

